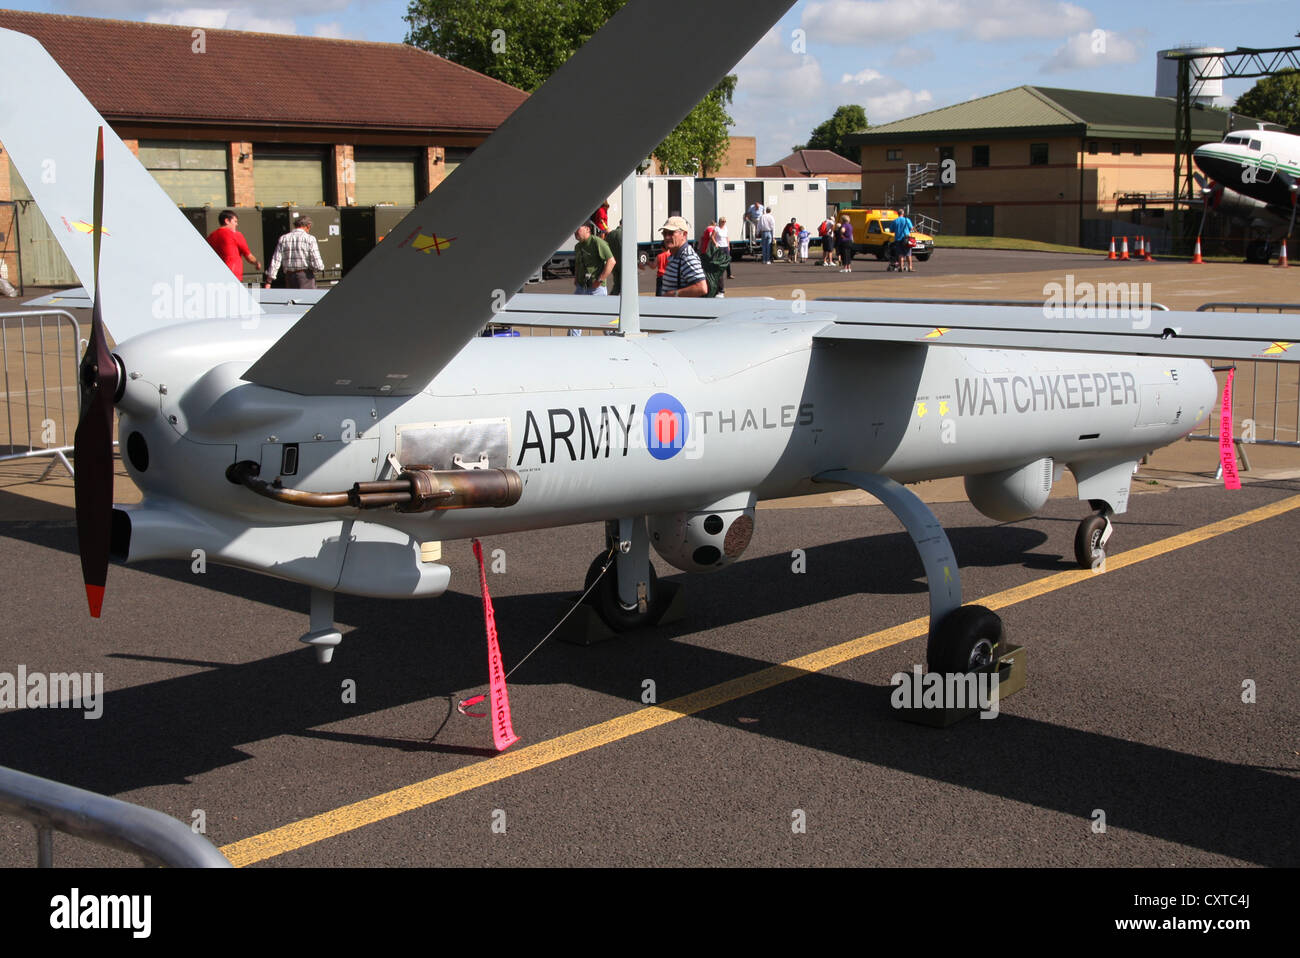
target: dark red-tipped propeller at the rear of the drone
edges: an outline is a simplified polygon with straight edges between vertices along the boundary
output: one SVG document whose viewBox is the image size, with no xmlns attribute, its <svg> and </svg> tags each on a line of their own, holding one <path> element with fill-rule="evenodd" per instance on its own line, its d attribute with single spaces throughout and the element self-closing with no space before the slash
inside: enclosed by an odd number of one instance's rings
<svg viewBox="0 0 1300 958">
<path fill-rule="evenodd" d="M 117 361 L 108 351 L 99 295 L 99 244 L 104 225 L 104 127 L 95 143 L 95 201 L 91 233 L 95 304 L 90 342 L 81 363 L 81 421 L 73 442 L 77 461 L 77 545 L 90 614 L 99 617 L 108 578 L 109 536 L 113 524 L 113 394 L 120 382 Z"/>
</svg>

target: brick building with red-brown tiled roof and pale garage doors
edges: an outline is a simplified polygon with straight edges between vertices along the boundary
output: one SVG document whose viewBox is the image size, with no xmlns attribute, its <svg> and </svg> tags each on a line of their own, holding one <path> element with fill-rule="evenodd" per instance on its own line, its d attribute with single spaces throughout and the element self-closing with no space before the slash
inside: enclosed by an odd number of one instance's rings
<svg viewBox="0 0 1300 958">
<path fill-rule="evenodd" d="M 400 43 L 18 10 L 0 27 L 35 36 L 182 207 L 411 205 L 526 97 Z M 0 156 L 0 200 L 29 196 Z"/>
</svg>

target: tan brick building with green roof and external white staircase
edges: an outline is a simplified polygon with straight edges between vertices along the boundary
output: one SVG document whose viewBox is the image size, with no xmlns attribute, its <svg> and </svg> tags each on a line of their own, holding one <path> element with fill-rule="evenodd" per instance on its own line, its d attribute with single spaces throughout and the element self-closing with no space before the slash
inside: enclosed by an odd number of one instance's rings
<svg viewBox="0 0 1300 958">
<path fill-rule="evenodd" d="M 1196 146 L 1230 123 L 1192 110 Z M 910 205 L 942 233 L 1105 244 L 1115 221 L 1167 230 L 1174 187 L 1174 101 L 1022 86 L 874 126 L 862 148 L 862 200 Z M 956 183 L 945 183 L 945 160 Z M 911 186 L 909 187 L 909 170 Z"/>
</svg>

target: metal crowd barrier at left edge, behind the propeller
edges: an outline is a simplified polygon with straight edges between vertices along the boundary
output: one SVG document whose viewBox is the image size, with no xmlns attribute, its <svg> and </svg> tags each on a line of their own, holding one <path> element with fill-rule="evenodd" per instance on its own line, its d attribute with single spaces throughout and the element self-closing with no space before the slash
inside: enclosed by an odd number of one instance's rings
<svg viewBox="0 0 1300 958">
<path fill-rule="evenodd" d="M 73 474 L 68 454 L 81 412 L 77 365 L 82 348 L 81 326 L 65 309 L 0 313 L 8 426 L 0 461 L 48 456 L 40 480 L 60 464 Z"/>
</svg>

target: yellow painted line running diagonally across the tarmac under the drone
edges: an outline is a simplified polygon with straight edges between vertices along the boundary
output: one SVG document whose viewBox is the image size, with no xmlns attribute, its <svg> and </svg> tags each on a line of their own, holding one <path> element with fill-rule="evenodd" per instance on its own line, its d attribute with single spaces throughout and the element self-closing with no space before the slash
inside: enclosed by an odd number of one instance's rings
<svg viewBox="0 0 1300 958">
<path fill-rule="evenodd" d="M 1230 516 L 1228 519 L 1222 519 L 1217 523 L 1210 523 L 1209 525 L 1202 525 L 1197 529 L 1191 529 L 1190 532 L 1171 536 L 1147 546 L 1131 549 L 1127 552 L 1122 552 L 1115 556 L 1108 556 L 1105 572 L 1115 572 L 1117 569 L 1122 569 L 1127 565 L 1135 565 L 1140 562 L 1165 555 L 1166 552 L 1173 552 L 1175 550 L 1196 545 L 1197 542 L 1212 539 L 1216 536 L 1222 536 L 1256 523 L 1262 523 L 1266 519 L 1280 516 L 1284 512 L 1291 512 L 1296 508 L 1300 508 L 1300 495 L 1279 499 L 1269 506 L 1261 506 L 1260 508 L 1249 510 L 1248 512 L 1242 512 L 1240 515 Z M 992 610 L 1006 608 L 1008 606 L 1027 602 L 1028 599 L 1045 595 L 1046 593 L 1089 580 L 1097 575 L 1105 573 L 1097 573 L 1091 569 L 1058 572 L 1013 589 L 1005 589 L 1000 593 L 987 595 L 979 599 L 979 603 Z M 458 768 L 452 772 L 445 772 L 442 775 L 436 775 L 432 779 L 417 781 L 413 785 L 406 785 L 404 788 L 385 792 L 384 794 L 378 794 L 372 798 L 364 798 L 360 802 L 354 802 L 352 805 L 344 805 L 339 809 L 321 812 L 320 815 L 312 815 L 311 818 L 292 822 L 280 828 L 273 828 L 269 832 L 263 832 L 261 835 L 255 835 L 248 838 L 243 838 L 242 841 L 231 842 L 230 845 L 224 846 L 221 851 L 235 866 L 263 862 L 268 858 L 282 855 L 286 851 L 306 848 L 307 845 L 313 845 L 315 842 L 324 841 L 325 838 L 332 838 L 337 835 L 355 831 L 363 825 L 369 825 L 376 822 L 393 818 L 394 815 L 400 815 L 406 811 L 412 811 L 426 805 L 433 805 L 434 802 L 441 802 L 445 798 L 451 798 L 452 796 L 458 796 L 463 792 L 482 788 L 484 785 L 490 785 L 494 781 L 521 775 L 523 772 L 528 772 L 533 768 L 549 766 L 554 762 L 569 758 L 571 755 L 590 751 L 592 749 L 598 749 L 602 745 L 610 745 L 621 738 L 640 734 L 641 732 L 649 732 L 653 728 L 667 725 L 670 721 L 676 721 L 677 719 L 684 719 L 688 715 L 694 715 L 696 712 L 701 712 L 706 708 L 714 708 L 715 706 L 744 698 L 745 695 L 751 695 L 757 692 L 783 685 L 793 679 L 798 679 L 812 672 L 822 672 L 845 662 L 868 655 L 870 653 L 879 651 L 880 649 L 887 649 L 889 646 L 898 645 L 900 642 L 906 642 L 910 638 L 923 636 L 926 634 L 927 628 L 928 616 L 913 619 L 911 621 L 902 623 L 901 625 L 874 632 L 870 636 L 862 636 L 820 651 L 801 655 L 797 659 L 783 662 L 780 666 L 770 666 L 768 668 L 759 669 L 758 672 L 750 672 L 749 675 L 738 676 L 737 679 L 732 679 L 718 685 L 711 685 L 707 689 L 693 692 L 689 695 L 675 698 L 671 702 L 664 702 L 663 705 L 640 708 L 628 715 L 620 715 L 616 719 L 610 719 L 608 721 L 602 721 L 597 725 L 581 728 L 576 732 L 558 736 L 556 738 L 549 738 L 545 742 L 529 745 L 516 751 L 507 751 L 484 762 L 476 762 L 474 764 L 465 766 L 464 768 Z"/>
</svg>

